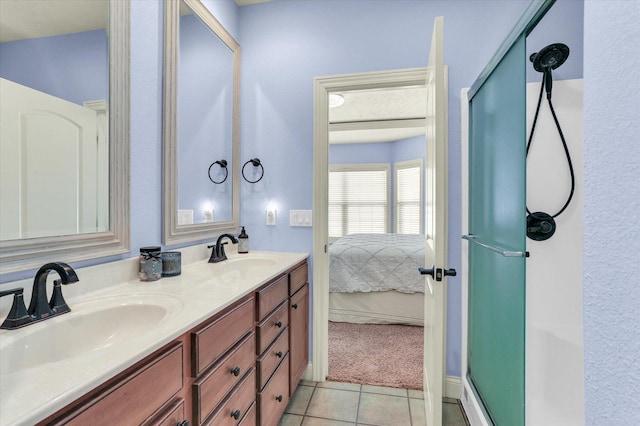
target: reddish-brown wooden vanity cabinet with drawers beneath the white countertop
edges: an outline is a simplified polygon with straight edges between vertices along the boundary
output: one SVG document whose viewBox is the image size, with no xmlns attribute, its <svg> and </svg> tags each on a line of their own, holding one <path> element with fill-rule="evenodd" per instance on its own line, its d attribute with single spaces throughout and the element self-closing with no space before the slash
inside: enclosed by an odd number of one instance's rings
<svg viewBox="0 0 640 426">
<path fill-rule="evenodd" d="M 275 426 L 308 339 L 305 260 L 39 425 Z"/>
</svg>

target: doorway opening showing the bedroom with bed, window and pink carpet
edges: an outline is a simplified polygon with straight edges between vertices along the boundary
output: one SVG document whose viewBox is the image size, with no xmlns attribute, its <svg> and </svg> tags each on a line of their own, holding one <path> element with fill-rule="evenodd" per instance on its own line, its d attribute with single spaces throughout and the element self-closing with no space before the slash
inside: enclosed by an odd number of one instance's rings
<svg viewBox="0 0 640 426">
<path fill-rule="evenodd" d="M 426 96 L 330 94 L 329 381 L 423 388 Z"/>
</svg>

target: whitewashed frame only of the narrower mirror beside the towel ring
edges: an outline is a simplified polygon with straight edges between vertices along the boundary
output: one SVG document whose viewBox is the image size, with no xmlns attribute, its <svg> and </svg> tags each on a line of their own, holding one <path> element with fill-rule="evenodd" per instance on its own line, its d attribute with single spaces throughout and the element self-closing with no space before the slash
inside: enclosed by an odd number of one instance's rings
<svg viewBox="0 0 640 426">
<path fill-rule="evenodd" d="M 178 18 L 180 0 L 165 2 L 164 52 L 164 145 L 163 145 L 163 232 L 164 244 L 205 240 L 238 230 L 240 212 L 240 45 L 199 0 L 183 0 L 233 52 L 233 148 L 231 159 L 232 220 L 178 226 Z M 206 179 L 206 177 L 205 177 Z"/>
</svg>

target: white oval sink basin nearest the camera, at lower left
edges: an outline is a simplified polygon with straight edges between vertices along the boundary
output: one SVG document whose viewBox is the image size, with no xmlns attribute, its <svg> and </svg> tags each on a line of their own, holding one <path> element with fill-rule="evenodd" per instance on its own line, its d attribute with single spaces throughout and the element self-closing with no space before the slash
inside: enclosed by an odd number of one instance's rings
<svg viewBox="0 0 640 426">
<path fill-rule="evenodd" d="M 135 338 L 182 309 L 179 299 L 164 295 L 114 296 L 69 305 L 70 313 L 19 330 L 3 331 L 0 375 Z"/>
</svg>

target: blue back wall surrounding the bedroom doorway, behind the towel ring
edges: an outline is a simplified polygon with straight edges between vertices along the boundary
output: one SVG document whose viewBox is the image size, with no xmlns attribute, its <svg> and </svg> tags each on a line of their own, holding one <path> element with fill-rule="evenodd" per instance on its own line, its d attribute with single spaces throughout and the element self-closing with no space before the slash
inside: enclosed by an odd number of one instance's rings
<svg viewBox="0 0 640 426">
<path fill-rule="evenodd" d="M 423 67 L 445 17 L 449 66 L 449 266 L 460 266 L 460 90 L 469 87 L 527 1 L 274 1 L 240 9 L 241 160 L 260 157 L 264 185 L 243 183 L 241 221 L 256 249 L 312 251 L 311 228 L 264 225 L 267 204 L 313 204 L 314 77 Z M 482 42 L 477 42 L 482 37 Z M 447 374 L 460 375 L 460 280 L 447 293 Z"/>
</svg>

